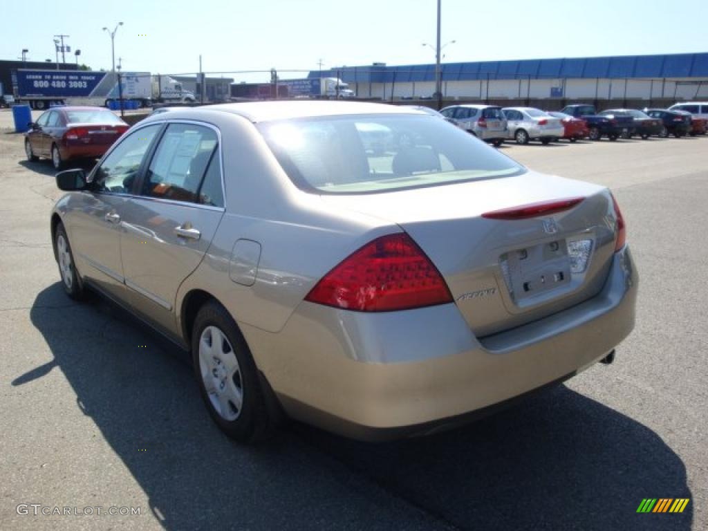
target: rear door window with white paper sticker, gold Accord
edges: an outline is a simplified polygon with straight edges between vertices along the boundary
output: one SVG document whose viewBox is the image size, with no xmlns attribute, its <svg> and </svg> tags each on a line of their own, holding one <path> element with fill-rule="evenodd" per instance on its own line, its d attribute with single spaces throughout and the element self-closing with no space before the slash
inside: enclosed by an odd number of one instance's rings
<svg viewBox="0 0 708 531">
<path fill-rule="evenodd" d="M 202 179 L 216 149 L 217 134 L 209 127 L 169 125 L 150 162 L 142 195 L 199 202 Z"/>
</svg>

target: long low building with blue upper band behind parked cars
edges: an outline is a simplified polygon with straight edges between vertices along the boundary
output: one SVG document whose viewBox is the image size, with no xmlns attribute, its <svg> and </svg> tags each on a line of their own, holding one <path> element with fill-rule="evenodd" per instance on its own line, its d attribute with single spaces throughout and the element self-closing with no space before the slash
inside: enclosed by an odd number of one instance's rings
<svg viewBox="0 0 708 531">
<path fill-rule="evenodd" d="M 435 92 L 435 64 L 309 73 L 320 75 L 340 77 L 362 98 L 427 98 Z M 708 99 L 708 53 L 445 63 L 441 80 L 447 99 Z"/>
</svg>

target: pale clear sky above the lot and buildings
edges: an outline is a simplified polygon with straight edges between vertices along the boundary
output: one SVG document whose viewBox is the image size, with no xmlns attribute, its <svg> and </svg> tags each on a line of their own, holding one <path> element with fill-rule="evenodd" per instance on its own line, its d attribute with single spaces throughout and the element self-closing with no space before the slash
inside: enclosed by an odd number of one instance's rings
<svg viewBox="0 0 708 531">
<path fill-rule="evenodd" d="M 55 61 L 54 35 L 80 62 L 180 74 L 435 62 L 436 0 L 12 1 L 0 18 L 0 59 Z M 9 11 L 8 11 L 9 9 Z M 680 10 L 680 14 L 679 11 Z M 442 0 L 442 62 L 707 52 L 708 0 Z M 61 57 L 59 57 L 61 59 Z M 287 72 L 290 71 L 290 72 Z M 224 74 L 227 75 L 227 74 Z M 268 81 L 268 74 L 228 74 Z"/>
</svg>

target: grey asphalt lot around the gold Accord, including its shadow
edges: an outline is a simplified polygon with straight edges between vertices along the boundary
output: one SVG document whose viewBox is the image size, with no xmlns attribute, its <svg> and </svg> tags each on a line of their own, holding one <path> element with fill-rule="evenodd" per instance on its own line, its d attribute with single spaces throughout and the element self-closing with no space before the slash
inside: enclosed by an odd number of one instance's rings
<svg viewBox="0 0 708 531">
<path fill-rule="evenodd" d="M 641 278 L 615 363 L 428 438 L 291 424 L 240 447 L 173 349 L 100 299 L 64 296 L 52 169 L 0 131 L 0 529 L 706 529 L 708 137 L 501 149 L 615 192 Z M 690 502 L 637 514 L 643 498 Z"/>
</svg>

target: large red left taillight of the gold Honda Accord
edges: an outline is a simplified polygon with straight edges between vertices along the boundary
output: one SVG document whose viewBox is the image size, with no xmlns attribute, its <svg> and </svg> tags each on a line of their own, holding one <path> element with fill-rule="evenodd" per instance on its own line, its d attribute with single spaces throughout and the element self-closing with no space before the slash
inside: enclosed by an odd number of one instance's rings
<svg viewBox="0 0 708 531">
<path fill-rule="evenodd" d="M 345 258 L 317 282 L 309 302 L 389 312 L 452 302 L 440 271 L 408 234 L 389 234 Z"/>
</svg>

